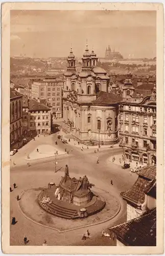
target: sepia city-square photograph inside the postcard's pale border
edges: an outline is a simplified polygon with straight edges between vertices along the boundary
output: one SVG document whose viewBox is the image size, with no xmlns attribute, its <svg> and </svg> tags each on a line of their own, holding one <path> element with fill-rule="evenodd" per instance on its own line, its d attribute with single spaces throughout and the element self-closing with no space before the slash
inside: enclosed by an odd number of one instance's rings
<svg viewBox="0 0 165 256">
<path fill-rule="evenodd" d="M 158 245 L 156 27 L 154 9 L 10 10 L 10 247 Z"/>
</svg>

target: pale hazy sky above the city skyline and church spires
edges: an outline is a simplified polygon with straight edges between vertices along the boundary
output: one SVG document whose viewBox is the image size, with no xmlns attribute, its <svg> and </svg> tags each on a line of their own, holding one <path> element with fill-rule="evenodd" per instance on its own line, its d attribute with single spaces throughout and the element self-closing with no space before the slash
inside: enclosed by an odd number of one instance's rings
<svg viewBox="0 0 165 256">
<path fill-rule="evenodd" d="M 65 57 L 70 46 L 82 57 L 89 51 L 105 56 L 110 45 L 124 58 L 156 57 L 156 11 L 36 11 L 10 12 L 10 54 Z"/>
</svg>

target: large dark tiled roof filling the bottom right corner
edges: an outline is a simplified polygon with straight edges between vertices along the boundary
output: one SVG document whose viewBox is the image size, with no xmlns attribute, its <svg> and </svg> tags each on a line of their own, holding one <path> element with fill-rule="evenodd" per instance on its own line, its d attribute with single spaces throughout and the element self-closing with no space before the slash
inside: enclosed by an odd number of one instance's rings
<svg viewBox="0 0 165 256">
<path fill-rule="evenodd" d="M 156 208 L 109 230 L 126 246 L 156 246 Z"/>
</svg>

